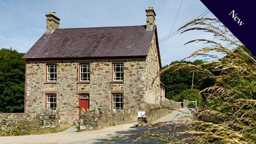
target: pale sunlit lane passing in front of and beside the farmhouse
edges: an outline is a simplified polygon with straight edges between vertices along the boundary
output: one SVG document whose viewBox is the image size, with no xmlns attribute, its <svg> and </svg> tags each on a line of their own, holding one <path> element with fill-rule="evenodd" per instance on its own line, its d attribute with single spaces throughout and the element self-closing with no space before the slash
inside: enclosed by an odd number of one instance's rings
<svg viewBox="0 0 256 144">
<path fill-rule="evenodd" d="M 160 118 L 155 121 L 155 123 L 170 120 L 175 121 L 179 118 L 191 116 L 188 109 L 179 110 L 180 111 L 173 111 L 173 113 L 168 116 Z M 74 128 L 70 128 L 55 134 L 0 136 L 0 143 L 104 143 L 109 139 L 116 138 L 120 135 L 141 134 L 146 131 L 146 127 L 133 127 L 135 124 L 137 123 L 116 125 L 115 127 L 108 127 L 95 131 L 74 132 Z M 133 139 L 120 139 L 113 143 L 131 143 L 132 141 Z"/>
</svg>

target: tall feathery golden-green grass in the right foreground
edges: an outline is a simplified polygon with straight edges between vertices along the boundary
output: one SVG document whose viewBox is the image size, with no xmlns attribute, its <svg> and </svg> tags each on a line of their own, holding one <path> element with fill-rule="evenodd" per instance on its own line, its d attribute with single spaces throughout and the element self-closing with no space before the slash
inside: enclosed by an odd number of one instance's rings
<svg viewBox="0 0 256 144">
<path fill-rule="evenodd" d="M 217 24 L 219 27 L 216 27 Z M 216 41 L 194 39 L 187 42 L 186 44 L 203 42 L 212 46 L 198 49 L 186 58 L 207 56 L 214 60 L 197 66 L 186 63 L 172 64 L 163 69 L 158 77 L 169 69 L 188 69 L 191 72 L 204 73 L 205 78 L 214 78 L 215 85 L 200 92 L 207 98 L 207 102 L 194 113 L 193 120 L 181 120 L 180 123 L 168 122 L 175 126 L 159 125 L 162 123 L 150 125 L 149 128 L 159 129 L 160 133 L 147 131 L 145 134 L 140 134 L 133 142 L 148 138 L 165 143 L 256 143 L 255 57 L 246 52 L 245 46 L 241 45 L 240 41 L 217 19 L 195 19 L 180 28 L 183 29 L 185 30 L 182 33 L 204 31 L 216 38 Z M 208 55 L 211 51 L 225 53 L 226 56 L 216 59 L 218 56 Z M 216 73 L 218 75 L 215 75 Z M 162 129 L 163 127 L 165 130 Z M 178 127 L 186 127 L 186 129 Z M 175 134 L 170 134 L 170 131 L 175 131 Z"/>
</svg>

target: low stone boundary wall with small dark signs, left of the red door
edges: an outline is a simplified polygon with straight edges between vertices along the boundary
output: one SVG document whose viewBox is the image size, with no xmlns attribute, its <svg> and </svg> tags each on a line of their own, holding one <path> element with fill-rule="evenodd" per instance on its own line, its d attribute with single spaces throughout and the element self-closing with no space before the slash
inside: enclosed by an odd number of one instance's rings
<svg viewBox="0 0 256 144">
<path fill-rule="evenodd" d="M 35 113 L 0 113 L 0 131 L 11 131 L 16 126 L 23 126 L 26 130 L 38 131 L 42 129 L 58 129 L 58 110 L 44 110 L 40 114 Z M 5 124 L 3 124 L 5 121 Z M 40 125 L 40 121 L 43 124 Z"/>
</svg>

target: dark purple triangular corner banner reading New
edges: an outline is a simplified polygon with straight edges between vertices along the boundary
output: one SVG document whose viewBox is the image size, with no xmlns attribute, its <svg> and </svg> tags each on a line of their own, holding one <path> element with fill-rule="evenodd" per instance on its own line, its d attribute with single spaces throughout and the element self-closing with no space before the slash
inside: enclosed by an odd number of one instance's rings
<svg viewBox="0 0 256 144">
<path fill-rule="evenodd" d="M 201 0 L 256 56 L 256 5 L 253 0 Z"/>
</svg>

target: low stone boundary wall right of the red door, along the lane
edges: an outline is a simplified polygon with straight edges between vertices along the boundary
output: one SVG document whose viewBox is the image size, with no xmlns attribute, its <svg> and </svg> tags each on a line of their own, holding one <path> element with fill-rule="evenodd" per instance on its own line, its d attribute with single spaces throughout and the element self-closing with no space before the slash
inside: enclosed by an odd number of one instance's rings
<svg viewBox="0 0 256 144">
<path fill-rule="evenodd" d="M 173 109 L 180 109 L 179 103 L 173 100 L 166 100 L 161 102 L 160 105 L 150 103 L 141 103 L 140 110 L 145 111 L 147 123 L 152 123 L 159 118 L 171 113 Z M 88 110 L 87 110 L 88 111 Z M 125 110 L 112 110 L 112 109 L 99 109 L 93 111 L 82 109 L 80 121 L 78 122 L 80 130 L 93 130 L 104 127 L 115 126 L 118 124 L 127 124 L 138 121 L 137 109 Z"/>
</svg>

